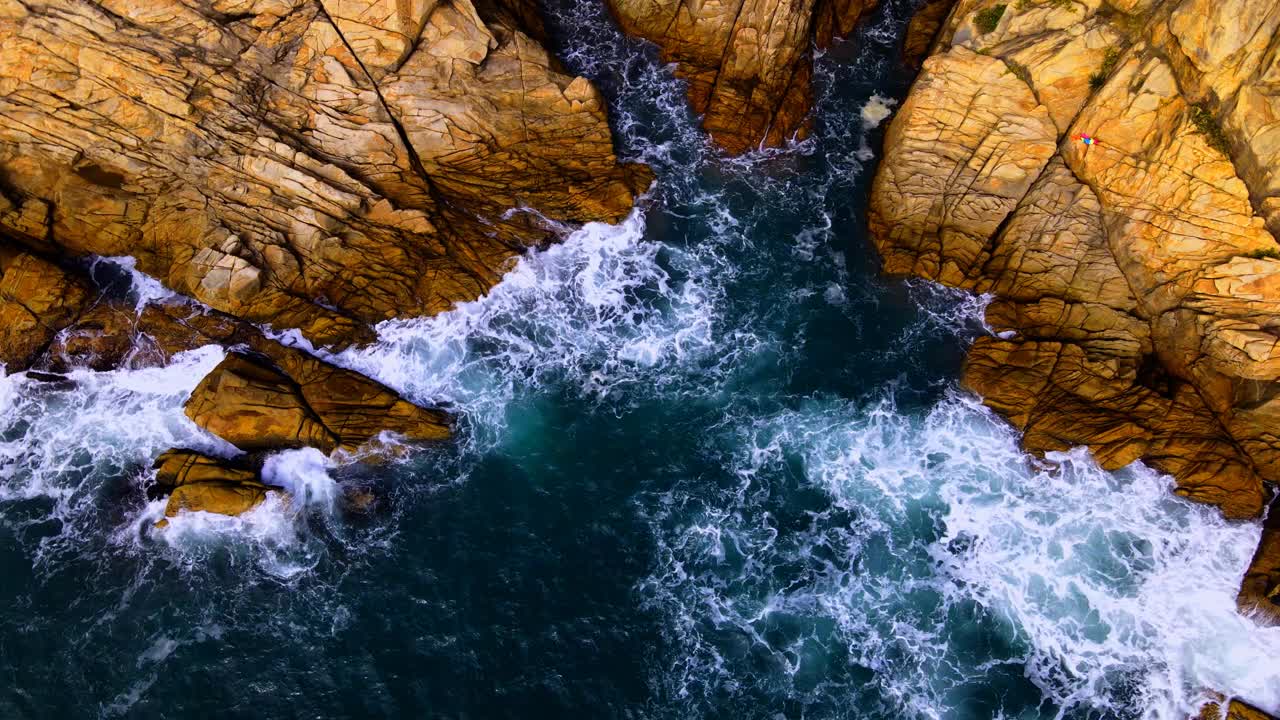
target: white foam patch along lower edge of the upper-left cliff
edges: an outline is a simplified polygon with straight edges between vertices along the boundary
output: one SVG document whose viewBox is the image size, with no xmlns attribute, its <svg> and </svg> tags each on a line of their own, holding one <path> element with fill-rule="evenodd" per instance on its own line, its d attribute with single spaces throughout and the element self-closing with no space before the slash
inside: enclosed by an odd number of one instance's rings
<svg viewBox="0 0 1280 720">
<path fill-rule="evenodd" d="M 719 340 L 708 256 L 646 240 L 637 209 L 617 225 L 590 223 L 526 255 L 481 300 L 383 323 L 376 345 L 333 360 L 489 428 L 500 427 L 517 392 L 550 379 L 594 397 L 641 378 L 660 386 L 673 380 L 662 369 L 705 357 Z"/>
</svg>

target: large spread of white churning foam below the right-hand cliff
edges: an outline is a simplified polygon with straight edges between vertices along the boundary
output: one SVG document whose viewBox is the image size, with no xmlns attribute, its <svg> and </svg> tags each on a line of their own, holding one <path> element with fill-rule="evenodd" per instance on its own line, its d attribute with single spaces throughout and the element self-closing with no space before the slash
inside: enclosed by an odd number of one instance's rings
<svg viewBox="0 0 1280 720">
<path fill-rule="evenodd" d="M 818 702 L 800 679 L 823 673 L 814 643 L 837 642 L 901 716 L 950 717 L 956 689 L 980 688 L 1000 661 L 966 659 L 974 626 L 951 615 L 980 606 L 1014 647 L 1004 662 L 1057 717 L 1183 720 L 1206 689 L 1280 706 L 1280 629 L 1234 609 L 1258 528 L 1172 496 L 1167 477 L 1106 473 L 1084 451 L 1032 460 L 960 395 L 924 416 L 891 400 L 813 405 L 753 423 L 739 445 L 731 497 L 692 501 L 687 524 L 672 525 L 672 502 L 653 518 L 660 562 L 641 591 L 685 648 L 667 678 L 677 694 L 732 694 L 744 667 L 723 653 L 740 637 L 785 670 L 755 683 Z M 831 506 L 780 528 L 790 459 Z M 778 633 L 780 618 L 805 629 Z M 814 630 L 823 619 L 836 629 Z"/>
</svg>

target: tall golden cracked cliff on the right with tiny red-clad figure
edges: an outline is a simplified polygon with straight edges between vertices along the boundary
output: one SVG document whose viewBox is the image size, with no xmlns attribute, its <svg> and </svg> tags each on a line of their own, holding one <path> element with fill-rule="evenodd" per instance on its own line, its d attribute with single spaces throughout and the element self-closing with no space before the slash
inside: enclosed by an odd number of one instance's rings
<svg viewBox="0 0 1280 720">
<path fill-rule="evenodd" d="M 1142 459 L 1233 518 L 1280 482 L 1277 29 L 1247 0 L 960 0 L 870 209 L 886 272 L 995 296 L 964 382 L 1029 450 Z"/>
</svg>

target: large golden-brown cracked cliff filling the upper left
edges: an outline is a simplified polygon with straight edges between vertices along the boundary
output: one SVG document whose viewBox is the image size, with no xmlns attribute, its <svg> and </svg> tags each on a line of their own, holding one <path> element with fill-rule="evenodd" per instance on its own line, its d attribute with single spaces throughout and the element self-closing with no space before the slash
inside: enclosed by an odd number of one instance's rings
<svg viewBox="0 0 1280 720">
<path fill-rule="evenodd" d="M 0 0 L 0 232 L 319 343 L 474 300 L 549 237 L 512 209 L 613 220 L 649 177 L 530 10 Z"/>
</svg>

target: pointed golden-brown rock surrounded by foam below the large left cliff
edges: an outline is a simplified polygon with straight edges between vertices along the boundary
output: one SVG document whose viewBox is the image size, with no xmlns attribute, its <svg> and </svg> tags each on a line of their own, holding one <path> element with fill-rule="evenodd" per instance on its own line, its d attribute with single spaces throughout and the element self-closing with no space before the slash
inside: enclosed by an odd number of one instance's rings
<svg viewBox="0 0 1280 720">
<path fill-rule="evenodd" d="M 255 348 L 269 355 L 228 355 L 186 406 L 197 425 L 241 450 L 356 450 L 381 432 L 410 441 L 449 437 L 443 413 L 424 410 L 357 373 L 270 341 Z"/>
</svg>

